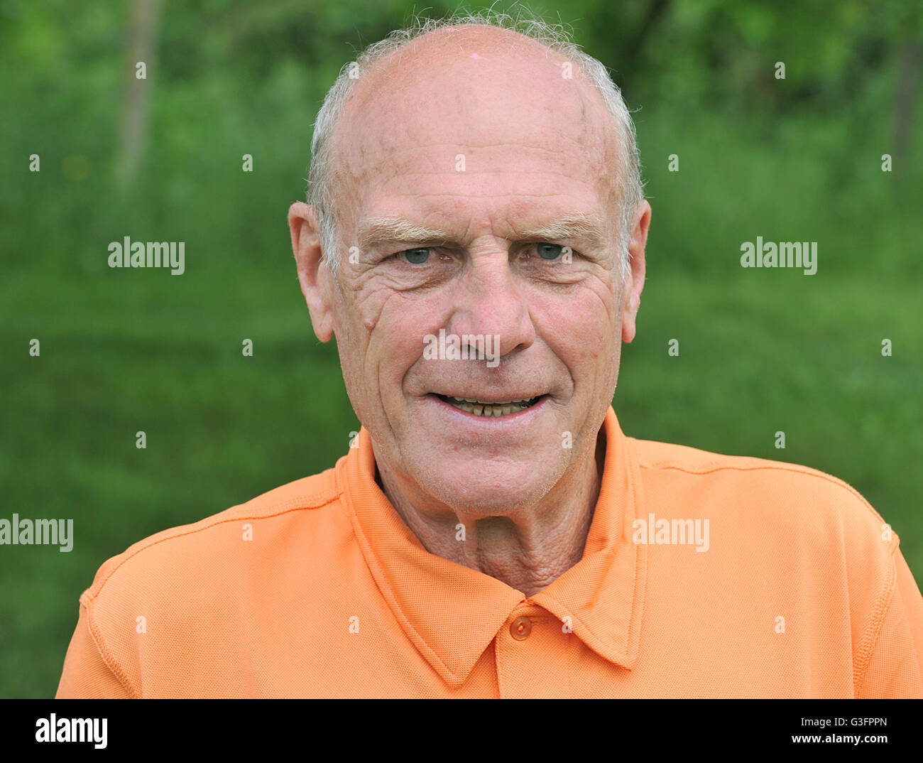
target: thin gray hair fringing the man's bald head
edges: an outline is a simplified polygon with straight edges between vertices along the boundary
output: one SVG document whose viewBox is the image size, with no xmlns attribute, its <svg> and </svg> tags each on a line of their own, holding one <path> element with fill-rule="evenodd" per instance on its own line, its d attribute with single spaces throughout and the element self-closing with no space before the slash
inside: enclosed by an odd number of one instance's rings
<svg viewBox="0 0 923 763">
<path fill-rule="evenodd" d="M 618 226 L 618 245 L 622 250 L 621 277 L 629 272 L 629 226 L 638 204 L 644 199 L 641 183 L 641 160 L 635 139 L 635 127 L 631 121 L 628 106 L 622 100 L 621 92 L 609 77 L 605 66 L 593 56 L 583 53 L 561 24 L 550 24 L 540 18 L 527 16 L 519 9 L 517 16 L 494 10 L 476 13 L 456 14 L 447 18 L 414 17 L 409 26 L 392 31 L 384 40 L 369 45 L 355 59 L 342 67 L 340 75 L 324 98 L 314 123 L 314 136 L 311 140 L 311 166 L 307 176 L 307 202 L 314 206 L 320 227 L 320 246 L 322 256 L 330 266 L 330 272 L 336 277 L 340 267 L 340 240 L 337 233 L 337 216 L 335 200 L 332 193 L 330 176 L 331 137 L 342 115 L 343 106 L 349 100 L 354 84 L 358 81 L 356 72 L 367 71 L 381 59 L 402 48 L 408 42 L 422 37 L 433 30 L 447 27 L 479 24 L 499 29 L 516 31 L 535 42 L 545 45 L 548 50 L 562 55 L 573 63 L 595 87 L 605 102 L 605 107 L 615 123 L 621 151 L 618 152 L 616 168 L 618 185 L 621 191 L 621 210 Z"/>
</svg>

